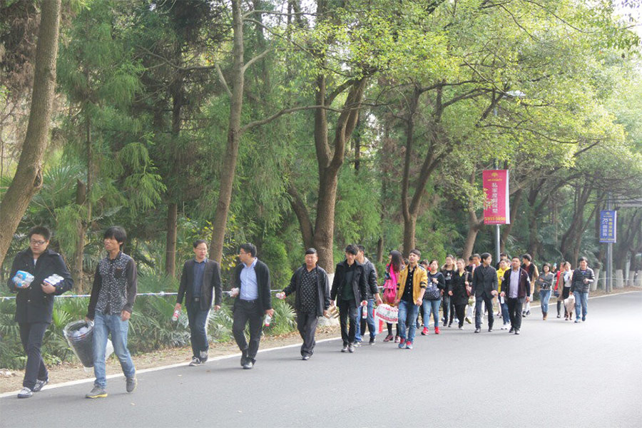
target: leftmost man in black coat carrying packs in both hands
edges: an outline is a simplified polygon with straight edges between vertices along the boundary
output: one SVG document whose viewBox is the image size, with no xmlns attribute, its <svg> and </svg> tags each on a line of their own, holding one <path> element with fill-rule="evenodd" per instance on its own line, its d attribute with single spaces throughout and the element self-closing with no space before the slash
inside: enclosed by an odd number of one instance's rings
<svg viewBox="0 0 642 428">
<path fill-rule="evenodd" d="M 42 360 L 40 348 L 44 333 L 51 324 L 54 296 L 61 295 L 73 285 L 71 274 L 61 255 L 49 250 L 51 232 L 44 226 L 29 230 L 29 248 L 14 258 L 9 275 L 9 290 L 17 292 L 16 316 L 20 327 L 20 340 L 27 355 L 22 390 L 18 398 L 29 398 L 49 382 L 49 372 Z M 19 270 L 34 275 L 30 283 L 14 281 Z M 63 280 L 45 281 L 51 275 L 60 275 Z M 52 285 L 49 282 L 54 282 Z"/>
</svg>

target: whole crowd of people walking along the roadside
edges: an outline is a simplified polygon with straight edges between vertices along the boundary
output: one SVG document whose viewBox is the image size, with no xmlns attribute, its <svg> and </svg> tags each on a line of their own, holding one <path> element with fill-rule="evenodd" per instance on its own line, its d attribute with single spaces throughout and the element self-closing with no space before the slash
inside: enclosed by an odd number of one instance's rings
<svg viewBox="0 0 642 428">
<path fill-rule="evenodd" d="M 126 231 L 118 226 L 103 234 L 107 252 L 96 267 L 86 322 L 93 323 L 93 370 L 96 377 L 87 398 L 107 397 L 106 347 L 111 337 L 126 379 L 126 391 L 137 386 L 136 368 L 127 347 L 129 318 L 136 301 L 136 263 L 123 253 Z M 29 231 L 29 248 L 16 255 L 11 266 L 9 289 L 16 292 L 16 316 L 24 350 L 27 355 L 23 389 L 19 398 L 28 398 L 49 382 L 49 373 L 41 357 L 44 333 L 51 324 L 54 296 L 71 289 L 73 280 L 63 258 L 50 250 L 51 231 L 42 226 Z M 183 265 L 175 310 L 185 300 L 190 327 L 192 360 L 198 366 L 208 360 L 207 322 L 210 309 L 219 310 L 223 290 L 220 265 L 207 258 L 205 240 L 193 243 L 194 258 Z M 551 295 L 557 299 L 557 317 L 574 322 L 586 321 L 588 292 L 595 280 L 588 260 L 579 259 L 574 270 L 569 262 L 559 265 L 544 263 L 541 273 L 531 256 L 509 258 L 501 254 L 492 265 L 489 253 L 472 255 L 468 263 L 448 255 L 440 266 L 438 260 L 422 260 L 419 250 L 411 250 L 404 259 L 392 250 L 381 284 L 374 264 L 365 257 L 362 245 L 347 245 L 345 260 L 337 264 L 330 285 L 327 272 L 317 265 L 317 250 L 305 251 L 304 263 L 295 270 L 290 284 L 276 297 L 285 299 L 295 294 L 297 330 L 303 340 L 302 360 L 309 360 L 315 350 L 315 332 L 320 317 L 327 317 L 335 308 L 339 312 L 342 337 L 341 352 L 355 352 L 369 333 L 368 343 L 377 338 L 375 308 L 389 305 L 398 310 L 393 335 L 392 322 L 387 323 L 383 342 L 394 342 L 401 349 L 412 350 L 417 329 L 429 335 L 432 315 L 434 334 L 453 323 L 464 329 L 472 324 L 480 333 L 484 316 L 488 332 L 493 331 L 494 312 L 501 317 L 501 330 L 519 335 L 521 320 L 531 315 L 531 300 L 539 292 L 542 319 L 549 315 Z M 255 245 L 240 245 L 240 263 L 233 269 L 230 296 L 233 304 L 233 335 L 241 351 L 240 365 L 251 370 L 256 363 L 263 325 L 274 315 L 270 290 L 270 269 L 257 258 Z M 31 280 L 26 281 L 29 277 Z M 562 312 L 562 308 L 564 311 Z M 442 317 L 439 310 L 442 310 Z M 419 322 L 419 315 L 422 323 Z M 265 317 L 265 320 L 264 320 Z M 248 326 L 249 342 L 245 335 Z"/>
</svg>

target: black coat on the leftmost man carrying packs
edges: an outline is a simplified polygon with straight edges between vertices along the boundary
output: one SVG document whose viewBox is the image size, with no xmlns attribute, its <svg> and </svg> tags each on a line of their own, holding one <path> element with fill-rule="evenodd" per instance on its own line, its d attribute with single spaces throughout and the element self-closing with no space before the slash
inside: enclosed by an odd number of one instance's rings
<svg viewBox="0 0 642 428">
<path fill-rule="evenodd" d="M 18 288 L 14 283 L 14 276 L 19 270 L 34 275 L 34 281 L 28 288 Z M 56 285 L 56 291 L 52 294 L 46 294 L 42 290 L 41 284 L 46 277 L 57 273 L 64 278 L 62 282 Z M 38 258 L 38 263 L 34 266 L 34 255 L 31 248 L 21 251 L 14 258 L 9 275 L 9 290 L 17 292 L 16 296 L 16 322 L 49 322 L 51 323 L 51 313 L 54 311 L 54 295 L 61 295 L 63 292 L 70 290 L 73 286 L 71 273 L 67 269 L 61 255 L 47 248 Z"/>
</svg>

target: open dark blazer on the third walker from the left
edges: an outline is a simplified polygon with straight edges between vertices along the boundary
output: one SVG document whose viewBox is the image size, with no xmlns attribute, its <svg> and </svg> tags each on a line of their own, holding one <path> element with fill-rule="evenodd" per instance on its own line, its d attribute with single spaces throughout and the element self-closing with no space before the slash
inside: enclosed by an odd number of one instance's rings
<svg viewBox="0 0 642 428">
<path fill-rule="evenodd" d="M 194 265 L 196 260 L 190 259 L 183 265 L 183 275 L 180 275 L 180 285 L 178 286 L 177 303 L 183 303 L 183 295 L 186 294 L 185 300 L 192 300 L 192 284 L 194 283 Z M 210 310 L 212 307 L 212 297 L 214 305 L 220 306 L 223 296 L 223 288 L 220 286 L 220 265 L 214 260 L 205 260 L 205 270 L 203 271 L 203 285 L 200 287 L 200 310 Z"/>
</svg>

